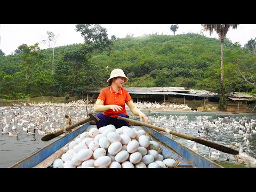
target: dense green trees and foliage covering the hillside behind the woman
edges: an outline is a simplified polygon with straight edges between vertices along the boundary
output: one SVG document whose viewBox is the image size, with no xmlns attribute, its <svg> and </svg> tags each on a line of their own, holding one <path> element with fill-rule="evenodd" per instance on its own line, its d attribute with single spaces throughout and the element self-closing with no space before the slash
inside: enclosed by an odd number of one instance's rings
<svg viewBox="0 0 256 192">
<path fill-rule="evenodd" d="M 77 26 L 82 36 L 84 29 L 86 26 Z M 107 40 L 106 36 L 100 38 Z M 71 96 L 92 87 L 107 86 L 115 68 L 123 69 L 129 77 L 127 87 L 183 86 L 220 93 L 219 39 L 199 34 L 127 35 L 122 39 L 113 37 L 108 43 L 111 49 L 102 49 L 100 43 L 89 49 L 90 42 L 55 47 L 54 73 L 52 49 L 39 50 L 38 44 L 23 44 L 11 55 L 2 54 L 0 97 L 39 97 L 41 93 Z M 256 93 L 254 44 L 255 39 L 251 39 L 241 47 L 225 39 L 226 92 Z"/>
</svg>

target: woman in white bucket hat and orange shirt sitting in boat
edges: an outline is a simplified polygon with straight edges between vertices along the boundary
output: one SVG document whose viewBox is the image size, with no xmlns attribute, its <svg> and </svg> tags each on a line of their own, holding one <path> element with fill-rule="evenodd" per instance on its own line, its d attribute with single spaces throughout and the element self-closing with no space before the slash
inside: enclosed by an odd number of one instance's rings
<svg viewBox="0 0 256 192">
<path fill-rule="evenodd" d="M 103 112 L 103 114 L 97 114 L 100 119 L 96 123 L 98 129 L 109 124 L 115 125 L 116 129 L 122 126 L 129 126 L 129 122 L 117 119 L 117 116 L 129 118 L 126 113 L 125 103 L 134 115 L 140 116 L 140 121 L 142 121 L 143 117 L 145 123 L 148 123 L 148 117 L 134 105 L 130 94 L 123 88 L 128 80 L 122 69 L 111 71 L 107 81 L 109 85 L 101 90 L 94 105 L 95 112 Z"/>
</svg>

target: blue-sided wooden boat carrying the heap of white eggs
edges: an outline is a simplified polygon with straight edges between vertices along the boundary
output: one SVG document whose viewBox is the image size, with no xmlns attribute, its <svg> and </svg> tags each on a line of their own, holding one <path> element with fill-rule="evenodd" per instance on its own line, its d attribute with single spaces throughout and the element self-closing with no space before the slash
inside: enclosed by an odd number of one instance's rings
<svg viewBox="0 0 256 192">
<path fill-rule="evenodd" d="M 89 131 L 92 127 L 96 127 L 92 122 L 88 122 L 83 126 L 76 128 L 65 137 L 50 143 L 42 149 L 35 151 L 33 154 L 21 159 L 9 168 L 43 168 L 52 167 L 54 159 L 61 157 L 68 150 L 68 144 L 84 131 Z M 147 126 L 132 125 L 137 130 L 145 130 L 151 139 L 157 141 L 162 147 L 162 155 L 164 158 L 174 158 L 180 162 L 177 168 L 223 168 L 188 147 L 181 145 L 177 141 L 161 134 L 159 131 L 150 129 Z"/>
</svg>

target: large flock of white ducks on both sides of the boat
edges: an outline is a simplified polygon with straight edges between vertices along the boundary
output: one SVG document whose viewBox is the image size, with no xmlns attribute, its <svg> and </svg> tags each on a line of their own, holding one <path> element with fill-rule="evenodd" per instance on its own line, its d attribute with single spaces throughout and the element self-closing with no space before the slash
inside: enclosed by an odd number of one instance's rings
<svg viewBox="0 0 256 192">
<path fill-rule="evenodd" d="M 159 103 L 139 102 L 135 103 L 138 108 L 163 108 L 163 105 Z M 72 123 L 81 121 L 87 117 L 87 114 L 93 112 L 94 104 L 87 104 L 86 100 L 77 100 L 68 103 L 25 103 L 25 105 L 12 106 L 12 107 L 0 107 L 0 129 L 2 130 L 2 137 L 6 134 L 9 137 L 19 137 L 20 133 L 27 135 L 45 135 L 65 127 L 65 115 L 71 115 Z M 188 109 L 187 105 L 172 104 L 172 107 L 177 109 Z M 171 106 L 169 106 L 170 108 Z M 130 117 L 131 118 L 131 117 Z M 193 119 L 194 118 L 194 119 Z M 251 117 L 217 117 L 213 119 L 212 116 L 193 116 L 193 118 L 187 115 L 153 115 L 149 116 L 149 123 L 162 127 L 170 127 L 177 132 L 188 133 L 195 137 L 202 137 L 207 140 L 211 140 L 211 135 L 215 138 L 216 135 L 223 135 L 225 132 L 232 132 L 233 141 L 235 145 L 229 147 L 239 147 L 239 155 L 234 157 L 227 157 L 229 159 L 235 159 L 237 163 L 243 163 L 250 167 L 256 167 L 256 160 L 248 153 L 244 152 L 243 146 L 247 146 L 246 150 L 250 152 L 250 139 L 255 138 L 256 133 L 256 120 Z M 24 132 L 23 132 L 24 131 Z M 166 133 L 167 134 L 167 133 Z M 172 135 L 173 137 L 173 135 Z M 243 139 L 243 140 L 242 140 Z M 221 139 L 221 142 L 225 139 Z M 237 141 L 237 142 L 236 142 Z M 244 141 L 244 143 L 242 143 Z M 215 142 L 213 140 L 213 142 Z M 223 155 L 221 151 L 211 151 L 209 154 L 205 154 L 205 146 L 198 148 L 194 141 L 183 141 L 189 148 L 196 151 L 198 154 L 202 154 L 211 159 L 220 159 Z M 222 144 L 222 143 L 221 143 Z M 194 147 L 190 147 L 194 145 Z M 200 144 L 201 145 L 201 144 Z M 226 143 L 227 146 L 227 143 Z M 256 146 L 251 146 L 255 148 Z M 205 149 L 205 151 L 201 151 Z M 209 150 L 210 151 L 210 150 Z M 247 152 L 246 151 L 246 152 Z M 256 151 L 253 152 L 255 156 Z"/>
</svg>

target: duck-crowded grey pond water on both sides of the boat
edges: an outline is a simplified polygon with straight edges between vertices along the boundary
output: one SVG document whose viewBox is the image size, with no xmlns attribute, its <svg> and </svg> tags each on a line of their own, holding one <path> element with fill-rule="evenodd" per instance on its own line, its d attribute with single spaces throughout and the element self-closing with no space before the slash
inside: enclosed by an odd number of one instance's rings
<svg viewBox="0 0 256 192">
<path fill-rule="evenodd" d="M 37 118 L 43 118 L 42 127 L 49 126 L 50 123 L 53 126 L 60 126 L 63 128 L 65 126 L 65 114 L 70 114 L 73 118 L 72 123 L 76 123 L 77 121 L 81 121 L 86 118 L 86 113 L 90 113 L 93 111 L 92 108 L 88 108 L 86 111 L 85 107 L 0 107 L 0 119 L 3 121 L 4 117 L 7 119 L 7 123 L 11 122 L 11 119 L 14 118 L 14 113 L 17 116 L 18 113 L 20 116 L 18 121 L 23 118 L 29 121 L 29 123 L 35 123 Z M 229 116 L 226 118 L 225 116 Z M 46 119 L 51 117 L 51 121 L 46 122 Z M 55 117 L 55 119 L 54 119 Z M 250 154 L 252 157 L 256 158 L 256 134 L 252 133 L 247 137 L 250 141 L 250 145 L 246 145 L 246 141 L 244 137 L 237 138 L 234 137 L 233 133 L 238 133 L 235 125 L 241 124 L 245 126 L 246 124 L 253 123 L 255 118 L 255 114 L 246 114 L 246 115 L 238 115 L 238 114 L 225 114 L 220 115 L 220 113 L 188 113 L 188 112 L 161 112 L 161 113 L 150 113 L 148 114 L 149 123 L 154 124 L 161 127 L 168 127 L 173 131 L 177 131 L 180 133 L 185 133 L 187 135 L 191 135 L 194 137 L 198 137 L 198 130 L 201 130 L 201 127 L 204 126 L 209 129 L 209 134 L 206 138 L 209 141 L 216 142 L 220 145 L 235 145 L 236 142 L 240 142 L 243 146 L 244 151 L 247 154 Z M 132 119 L 137 119 L 138 116 L 130 116 Z M 202 120 L 203 118 L 203 120 Z M 222 120 L 221 120 L 222 119 Z M 61 123 L 62 120 L 62 123 Z M 217 121 L 218 120 L 218 121 Z M 212 123 L 215 121 L 215 124 L 220 129 L 220 131 L 214 131 L 214 127 Z M 20 122 L 19 122 L 20 123 Z M 28 125 L 29 123 L 25 123 Z M 10 129 L 13 126 L 17 126 L 17 122 L 11 123 Z M 255 125 L 252 125 L 255 129 Z M 1 130 L 4 125 L 0 123 Z M 30 130 L 33 132 L 34 127 Z M 50 141 L 41 141 L 43 135 L 39 135 L 36 131 L 35 135 L 27 135 L 25 131 L 22 131 L 22 126 L 17 126 L 17 130 L 13 131 L 14 134 L 20 132 L 18 138 L 9 137 L 9 134 L 1 134 L 0 135 L 0 167 L 9 167 L 14 163 L 18 162 L 20 159 L 34 153 L 36 150 L 41 149 L 49 145 L 49 143 L 54 142 L 59 137 L 54 138 Z M 169 133 L 164 133 L 170 136 Z M 194 143 L 188 142 L 187 139 L 183 138 L 175 138 L 178 142 L 182 143 L 185 146 L 189 146 L 192 148 Z M 213 148 L 204 147 L 201 144 L 197 144 L 199 154 L 206 156 L 209 155 L 210 151 L 217 151 Z M 238 148 L 237 148 L 238 150 Z M 229 161 L 226 160 L 229 158 Z M 212 159 L 213 161 L 217 161 L 220 165 L 224 167 L 246 167 L 242 164 L 237 164 L 234 156 L 230 156 L 229 154 L 222 153 L 219 159 Z"/>
</svg>

